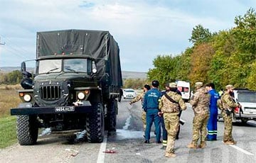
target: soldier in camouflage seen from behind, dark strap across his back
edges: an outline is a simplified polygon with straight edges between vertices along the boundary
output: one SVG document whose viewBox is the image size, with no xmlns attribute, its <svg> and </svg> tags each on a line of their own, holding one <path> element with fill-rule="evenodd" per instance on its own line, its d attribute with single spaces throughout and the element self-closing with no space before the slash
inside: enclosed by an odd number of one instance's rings
<svg viewBox="0 0 256 163">
<path fill-rule="evenodd" d="M 172 91 L 176 88 L 176 83 L 169 84 L 170 91 L 166 92 L 159 101 L 159 109 L 164 114 L 164 125 L 168 133 L 166 157 L 176 157 L 174 154 L 174 140 L 178 131 L 179 117 L 178 113 L 180 110 L 186 110 L 186 104 L 184 103 L 181 95 L 177 92 Z M 167 95 L 167 96 L 166 96 Z M 170 98 L 168 98 L 168 96 Z"/>
</svg>

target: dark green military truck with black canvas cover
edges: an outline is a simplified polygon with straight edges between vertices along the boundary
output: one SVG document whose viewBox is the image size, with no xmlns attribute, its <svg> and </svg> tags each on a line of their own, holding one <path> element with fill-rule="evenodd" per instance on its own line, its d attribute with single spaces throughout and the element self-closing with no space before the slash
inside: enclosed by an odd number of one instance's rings
<svg viewBox="0 0 256 163">
<path fill-rule="evenodd" d="M 122 74 L 119 46 L 108 31 L 38 32 L 35 72 L 26 62 L 21 72 L 22 103 L 11 108 L 20 145 L 36 144 L 38 128 L 86 130 L 88 142 L 115 130 Z"/>
</svg>

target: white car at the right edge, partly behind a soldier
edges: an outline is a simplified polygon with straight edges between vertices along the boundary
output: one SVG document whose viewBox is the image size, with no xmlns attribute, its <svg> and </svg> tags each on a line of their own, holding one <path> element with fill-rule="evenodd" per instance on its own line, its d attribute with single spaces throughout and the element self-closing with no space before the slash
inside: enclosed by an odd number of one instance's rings
<svg viewBox="0 0 256 163">
<path fill-rule="evenodd" d="M 247 120 L 256 120 L 256 91 L 248 89 L 235 89 L 234 100 L 240 103 L 242 108 L 235 108 L 233 111 L 233 122 L 246 123 Z M 218 111 L 218 119 L 222 118 Z"/>
</svg>

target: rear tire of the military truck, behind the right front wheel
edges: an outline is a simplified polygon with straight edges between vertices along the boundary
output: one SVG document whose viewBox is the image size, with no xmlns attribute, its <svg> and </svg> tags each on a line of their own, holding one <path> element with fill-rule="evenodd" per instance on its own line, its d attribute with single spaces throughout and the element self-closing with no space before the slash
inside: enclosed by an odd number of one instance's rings
<svg viewBox="0 0 256 163">
<path fill-rule="evenodd" d="M 107 106 L 107 130 L 115 131 L 117 125 L 117 100 L 111 99 Z"/>
</svg>

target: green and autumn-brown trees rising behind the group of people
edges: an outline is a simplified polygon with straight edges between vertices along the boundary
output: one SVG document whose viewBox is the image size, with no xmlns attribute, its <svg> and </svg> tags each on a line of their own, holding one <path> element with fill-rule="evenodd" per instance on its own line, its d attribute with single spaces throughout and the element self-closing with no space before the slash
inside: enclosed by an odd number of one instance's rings
<svg viewBox="0 0 256 163">
<path fill-rule="evenodd" d="M 184 80 L 195 84 L 213 82 L 217 89 L 227 84 L 256 90 L 256 13 L 250 8 L 235 17 L 235 27 L 210 33 L 201 24 L 194 27 L 192 47 L 178 55 L 158 55 L 154 68 L 147 72 L 150 80 L 161 85 Z"/>
</svg>

